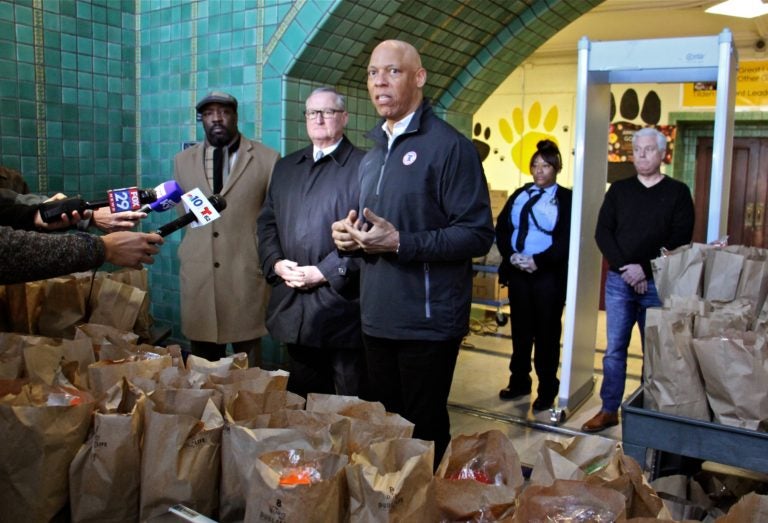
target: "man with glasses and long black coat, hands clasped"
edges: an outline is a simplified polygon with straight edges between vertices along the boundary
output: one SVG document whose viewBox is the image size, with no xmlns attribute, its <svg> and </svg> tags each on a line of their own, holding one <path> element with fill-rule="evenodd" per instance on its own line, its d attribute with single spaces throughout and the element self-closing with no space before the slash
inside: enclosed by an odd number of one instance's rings
<svg viewBox="0 0 768 523">
<path fill-rule="evenodd" d="M 356 258 L 342 257 L 331 223 L 357 205 L 365 154 L 344 136 L 344 97 L 307 98 L 312 145 L 279 160 L 258 221 L 259 259 L 272 293 L 267 329 L 291 357 L 288 390 L 365 396 Z"/>
</svg>

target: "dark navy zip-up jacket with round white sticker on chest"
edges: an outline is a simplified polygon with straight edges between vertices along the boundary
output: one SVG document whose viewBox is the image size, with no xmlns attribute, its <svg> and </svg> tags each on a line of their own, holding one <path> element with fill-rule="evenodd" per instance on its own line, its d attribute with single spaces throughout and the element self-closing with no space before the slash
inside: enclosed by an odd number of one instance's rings
<svg viewBox="0 0 768 523">
<path fill-rule="evenodd" d="M 469 329 L 472 258 L 485 255 L 494 237 L 480 157 L 427 101 L 389 151 L 382 123 L 367 135 L 376 145 L 360 164 L 360 210 L 391 222 L 400 248 L 364 257 L 363 332 L 396 340 L 461 338 Z"/>
</svg>

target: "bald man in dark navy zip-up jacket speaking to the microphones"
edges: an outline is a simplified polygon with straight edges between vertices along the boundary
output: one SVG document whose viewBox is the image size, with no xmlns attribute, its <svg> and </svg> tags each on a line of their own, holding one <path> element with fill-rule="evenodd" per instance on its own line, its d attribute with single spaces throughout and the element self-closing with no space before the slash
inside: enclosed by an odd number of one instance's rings
<svg viewBox="0 0 768 523">
<path fill-rule="evenodd" d="M 362 251 L 361 310 L 374 399 L 435 442 L 450 441 L 447 400 L 469 329 L 472 258 L 493 243 L 488 185 L 476 149 L 424 100 L 416 49 L 380 43 L 368 93 L 384 120 L 360 165 L 360 204 L 333 224 L 336 246 Z M 359 209 L 359 212 L 358 212 Z"/>
</svg>

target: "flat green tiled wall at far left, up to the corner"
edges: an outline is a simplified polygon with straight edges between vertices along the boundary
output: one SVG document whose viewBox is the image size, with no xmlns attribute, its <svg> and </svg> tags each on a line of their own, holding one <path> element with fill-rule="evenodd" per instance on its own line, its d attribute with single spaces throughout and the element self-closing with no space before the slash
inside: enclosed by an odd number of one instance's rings
<svg viewBox="0 0 768 523">
<path fill-rule="evenodd" d="M 1 3 L 0 162 L 49 194 L 136 184 L 133 44 L 133 2 Z"/>
</svg>

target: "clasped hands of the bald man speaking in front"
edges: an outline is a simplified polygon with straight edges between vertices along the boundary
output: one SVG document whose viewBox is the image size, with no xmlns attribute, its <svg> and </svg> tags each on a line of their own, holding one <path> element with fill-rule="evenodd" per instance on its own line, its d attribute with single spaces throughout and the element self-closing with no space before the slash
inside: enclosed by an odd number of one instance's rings
<svg viewBox="0 0 768 523">
<path fill-rule="evenodd" d="M 368 254 L 397 252 L 400 232 L 395 226 L 368 208 L 363 209 L 363 218 L 357 211 L 349 211 L 346 218 L 331 225 L 336 247 L 344 252 L 362 249 Z"/>
</svg>

